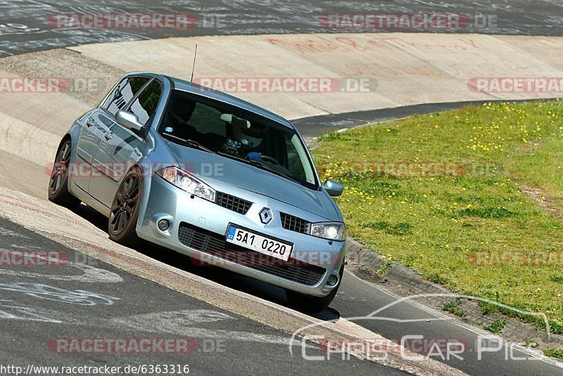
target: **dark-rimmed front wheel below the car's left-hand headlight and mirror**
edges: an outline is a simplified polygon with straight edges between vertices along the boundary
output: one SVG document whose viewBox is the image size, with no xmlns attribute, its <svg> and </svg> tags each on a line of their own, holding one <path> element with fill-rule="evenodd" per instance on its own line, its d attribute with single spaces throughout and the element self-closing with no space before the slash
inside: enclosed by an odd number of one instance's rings
<svg viewBox="0 0 563 376">
<path fill-rule="evenodd" d="M 114 242 L 126 246 L 140 244 L 136 227 L 142 194 L 142 173 L 138 167 L 134 167 L 125 175 L 111 203 L 108 233 Z"/>
</svg>

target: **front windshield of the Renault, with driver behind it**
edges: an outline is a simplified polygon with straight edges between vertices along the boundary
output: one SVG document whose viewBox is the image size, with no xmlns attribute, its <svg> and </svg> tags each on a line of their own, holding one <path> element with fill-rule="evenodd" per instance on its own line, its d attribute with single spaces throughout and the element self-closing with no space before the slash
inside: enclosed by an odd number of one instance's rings
<svg viewBox="0 0 563 376">
<path fill-rule="evenodd" d="M 219 153 L 317 188 L 296 131 L 236 106 L 175 90 L 160 134 L 170 142 Z"/>
</svg>

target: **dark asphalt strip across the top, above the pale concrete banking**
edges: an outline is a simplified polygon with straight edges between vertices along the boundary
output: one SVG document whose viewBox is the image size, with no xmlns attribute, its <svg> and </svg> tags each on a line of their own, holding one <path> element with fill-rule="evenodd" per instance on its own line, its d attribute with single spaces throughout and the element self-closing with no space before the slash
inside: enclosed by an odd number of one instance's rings
<svg viewBox="0 0 563 376">
<path fill-rule="evenodd" d="M 60 14 L 189 13 L 193 27 L 64 29 L 48 20 Z M 0 57 L 77 44 L 196 35 L 262 35 L 312 32 L 376 32 L 323 27 L 329 14 L 457 13 L 469 15 L 467 27 L 431 30 L 383 29 L 381 32 L 476 32 L 503 35 L 563 35 L 559 0 L 0 0 Z M 477 18 L 476 16 L 477 15 Z M 486 25 L 481 17 L 491 18 Z M 483 27 L 482 27 L 483 26 Z"/>
</svg>

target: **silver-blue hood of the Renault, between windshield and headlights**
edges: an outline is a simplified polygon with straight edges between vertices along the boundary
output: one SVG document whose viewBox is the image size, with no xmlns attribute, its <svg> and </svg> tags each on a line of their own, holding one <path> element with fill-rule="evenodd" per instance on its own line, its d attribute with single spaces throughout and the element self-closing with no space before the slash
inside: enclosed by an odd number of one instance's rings
<svg viewBox="0 0 563 376">
<path fill-rule="evenodd" d="M 268 196 L 327 220 L 341 220 L 331 197 L 323 191 L 303 187 L 253 165 L 187 146 L 166 142 L 179 165 L 203 180 L 219 180 L 234 187 Z M 209 182 L 213 185 L 213 182 Z"/>
</svg>

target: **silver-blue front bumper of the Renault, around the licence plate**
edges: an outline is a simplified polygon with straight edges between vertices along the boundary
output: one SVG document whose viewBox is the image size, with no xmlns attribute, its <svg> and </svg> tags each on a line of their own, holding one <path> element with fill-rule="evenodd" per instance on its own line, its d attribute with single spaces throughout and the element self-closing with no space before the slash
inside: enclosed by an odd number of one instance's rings
<svg viewBox="0 0 563 376">
<path fill-rule="evenodd" d="M 339 274 L 346 242 L 329 242 L 327 239 L 286 230 L 282 227 L 279 213 L 290 213 L 312 223 L 325 222 L 325 218 L 245 189 L 221 182 L 213 184 L 217 191 L 253 203 L 243 215 L 197 196 L 192 198 L 158 176 L 153 175 L 146 180 L 148 184 L 137 223 L 137 234 L 141 239 L 191 256 L 205 264 L 218 265 L 303 294 L 327 296 L 338 286 L 329 286 L 327 281 L 331 275 Z M 267 225 L 260 221 L 262 208 L 270 208 L 273 212 L 273 219 Z M 165 231 L 158 229 L 157 224 L 161 219 L 170 223 Z M 224 239 L 229 223 L 293 243 L 290 260 L 284 263 L 272 259 L 275 264 L 272 266 L 265 262 L 261 253 L 240 247 L 236 249 L 232 244 L 227 244 Z"/>
</svg>

